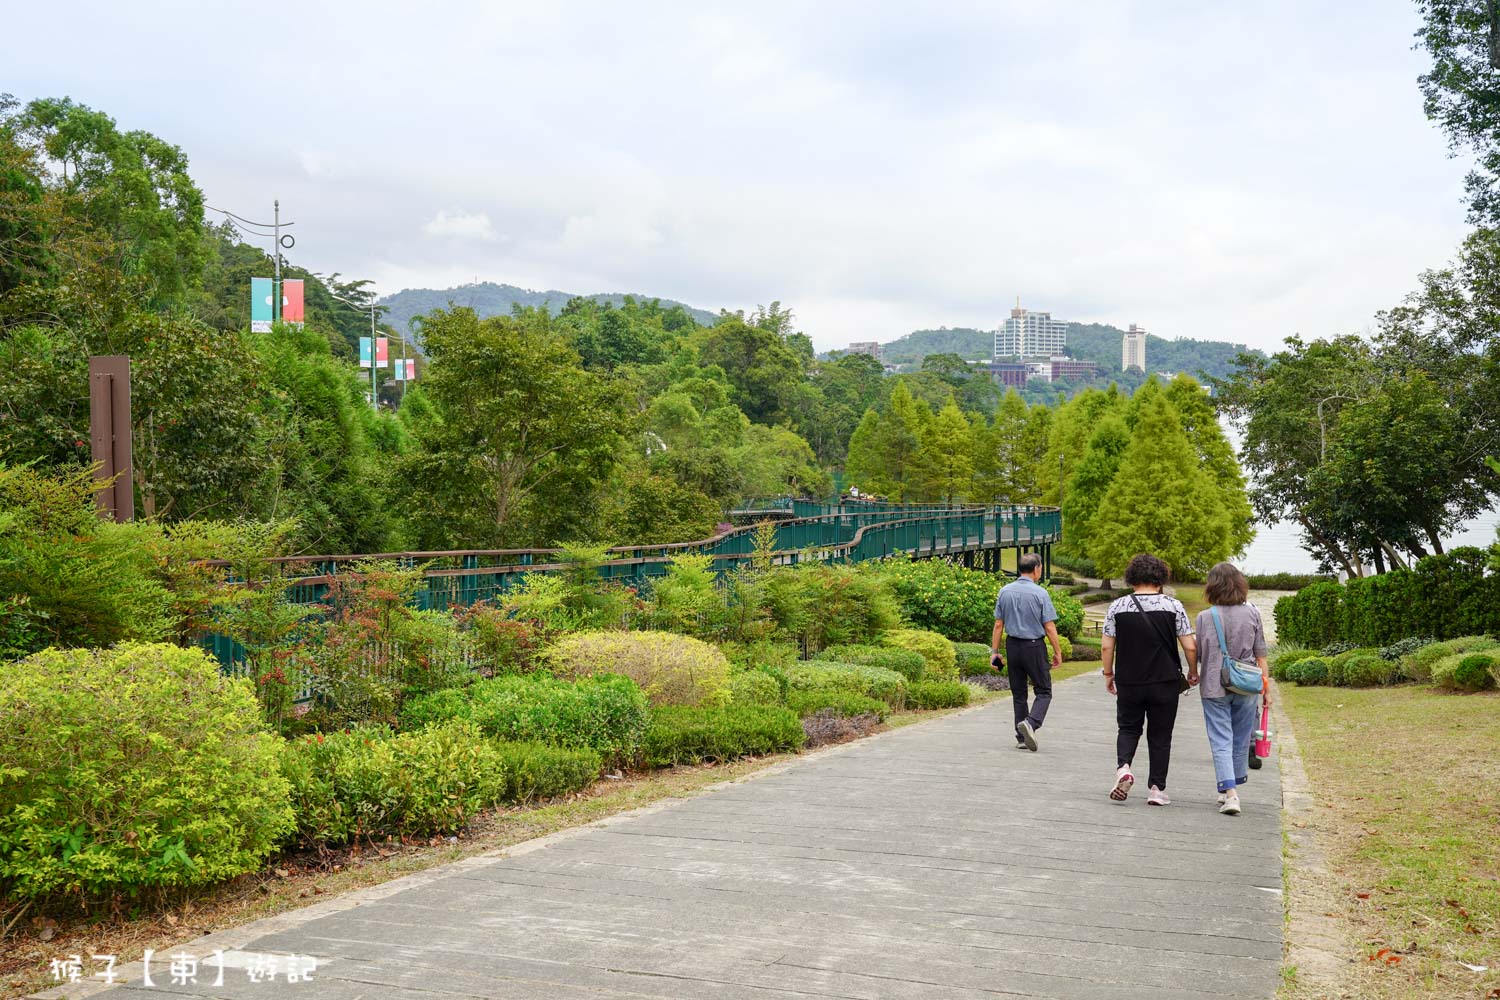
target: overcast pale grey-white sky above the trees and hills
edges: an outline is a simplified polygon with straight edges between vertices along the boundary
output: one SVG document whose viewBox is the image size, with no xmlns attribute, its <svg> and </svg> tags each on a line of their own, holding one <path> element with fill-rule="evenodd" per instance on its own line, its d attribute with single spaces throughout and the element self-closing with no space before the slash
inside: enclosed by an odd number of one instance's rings
<svg viewBox="0 0 1500 1000">
<path fill-rule="evenodd" d="M 1356 15 L 1358 10 L 1358 15 Z M 14 6 L 0 90 L 177 142 L 382 292 L 495 280 L 819 348 L 1058 318 L 1274 348 L 1464 235 L 1408 0 Z"/>
</svg>

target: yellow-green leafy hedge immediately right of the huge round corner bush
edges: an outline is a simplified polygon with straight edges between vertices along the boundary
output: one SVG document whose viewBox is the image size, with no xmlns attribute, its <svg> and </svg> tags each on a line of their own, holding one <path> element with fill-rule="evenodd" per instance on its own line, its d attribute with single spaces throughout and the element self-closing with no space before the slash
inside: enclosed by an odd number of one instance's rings
<svg viewBox="0 0 1500 1000">
<path fill-rule="evenodd" d="M 504 757 L 462 721 L 302 736 L 282 748 L 280 771 L 308 847 L 452 834 L 506 796 Z"/>
</svg>

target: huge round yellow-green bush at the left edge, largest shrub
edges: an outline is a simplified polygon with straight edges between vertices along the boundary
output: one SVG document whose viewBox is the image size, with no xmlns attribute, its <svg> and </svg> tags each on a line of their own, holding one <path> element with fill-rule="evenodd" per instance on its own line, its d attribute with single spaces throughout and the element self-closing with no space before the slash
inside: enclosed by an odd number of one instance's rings
<svg viewBox="0 0 1500 1000">
<path fill-rule="evenodd" d="M 279 738 L 198 649 L 46 649 L 0 669 L 0 895 L 80 903 L 261 865 L 292 831 Z"/>
</svg>

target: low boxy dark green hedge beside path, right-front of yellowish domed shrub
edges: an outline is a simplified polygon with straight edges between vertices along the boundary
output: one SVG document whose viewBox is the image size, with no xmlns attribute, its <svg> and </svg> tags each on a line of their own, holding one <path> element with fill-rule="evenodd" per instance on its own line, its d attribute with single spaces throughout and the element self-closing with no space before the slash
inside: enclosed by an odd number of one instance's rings
<svg viewBox="0 0 1500 1000">
<path fill-rule="evenodd" d="M 784 708 L 658 708 L 651 712 L 642 760 L 650 768 L 666 768 L 788 753 L 804 742 L 801 720 Z"/>
</svg>

